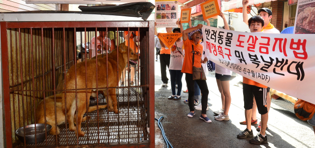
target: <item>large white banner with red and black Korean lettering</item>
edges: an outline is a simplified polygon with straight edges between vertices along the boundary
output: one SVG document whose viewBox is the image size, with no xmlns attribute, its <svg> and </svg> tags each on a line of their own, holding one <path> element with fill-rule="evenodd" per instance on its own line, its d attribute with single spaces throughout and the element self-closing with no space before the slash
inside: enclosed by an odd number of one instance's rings
<svg viewBox="0 0 315 148">
<path fill-rule="evenodd" d="M 262 85 L 315 104 L 315 34 L 202 27 L 210 60 Z"/>
</svg>

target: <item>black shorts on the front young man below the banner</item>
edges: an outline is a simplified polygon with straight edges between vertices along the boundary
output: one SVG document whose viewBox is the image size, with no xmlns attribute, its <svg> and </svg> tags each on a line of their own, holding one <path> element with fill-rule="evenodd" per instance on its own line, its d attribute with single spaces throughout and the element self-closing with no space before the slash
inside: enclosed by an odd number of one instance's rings
<svg viewBox="0 0 315 148">
<path fill-rule="evenodd" d="M 253 85 L 243 84 L 244 108 L 252 109 L 253 97 L 255 97 L 258 113 L 264 115 L 267 110 L 267 88 L 260 88 Z"/>
</svg>

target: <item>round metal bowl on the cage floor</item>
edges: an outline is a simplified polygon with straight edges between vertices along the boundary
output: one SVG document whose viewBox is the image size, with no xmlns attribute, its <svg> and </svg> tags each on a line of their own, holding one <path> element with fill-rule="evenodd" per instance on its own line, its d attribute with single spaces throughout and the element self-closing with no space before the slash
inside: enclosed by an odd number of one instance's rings
<svg viewBox="0 0 315 148">
<path fill-rule="evenodd" d="M 47 136 L 50 133 L 50 130 L 52 128 L 51 125 L 46 124 L 47 128 Z M 36 124 L 36 142 L 41 143 L 45 140 L 45 124 Z M 25 133 L 24 133 L 24 127 L 20 127 L 15 131 L 16 136 L 21 140 L 22 143 L 24 143 L 24 136 L 26 144 L 35 144 L 35 124 L 27 125 L 25 126 Z"/>
</svg>

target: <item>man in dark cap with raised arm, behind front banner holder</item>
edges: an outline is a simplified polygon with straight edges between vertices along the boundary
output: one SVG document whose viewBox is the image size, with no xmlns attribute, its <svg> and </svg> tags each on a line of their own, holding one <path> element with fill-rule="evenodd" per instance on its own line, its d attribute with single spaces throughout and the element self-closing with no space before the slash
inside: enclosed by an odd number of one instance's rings
<svg viewBox="0 0 315 148">
<path fill-rule="evenodd" d="M 246 8 L 248 6 L 249 0 L 243 0 L 243 8 Z M 262 32 L 263 33 L 280 33 L 279 30 L 277 30 L 270 22 L 271 22 L 271 18 L 272 18 L 272 11 L 268 8 L 261 8 L 258 10 L 258 14 L 260 17 L 263 18 L 264 20 L 264 26 L 262 28 Z M 248 15 L 247 15 L 247 10 L 243 9 L 243 21 L 248 24 Z M 267 109 L 269 112 L 270 109 L 270 105 L 271 105 L 271 97 L 269 94 L 270 88 L 267 88 Z M 257 124 L 257 106 L 255 103 L 255 99 L 254 99 L 254 105 L 252 107 L 252 119 L 251 119 L 251 123 L 252 124 Z M 240 124 L 246 124 L 246 121 L 241 121 Z M 256 130 L 260 131 L 261 128 L 261 122 L 259 122 Z M 268 128 L 268 126 L 267 126 Z"/>
</svg>

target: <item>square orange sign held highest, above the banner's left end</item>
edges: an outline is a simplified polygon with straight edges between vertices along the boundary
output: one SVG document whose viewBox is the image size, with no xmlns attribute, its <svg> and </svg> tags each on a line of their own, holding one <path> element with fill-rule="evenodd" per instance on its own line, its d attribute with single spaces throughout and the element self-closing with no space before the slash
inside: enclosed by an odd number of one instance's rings
<svg viewBox="0 0 315 148">
<path fill-rule="evenodd" d="M 209 19 L 220 14 L 218 0 L 208 0 L 200 4 L 203 19 Z"/>
</svg>

